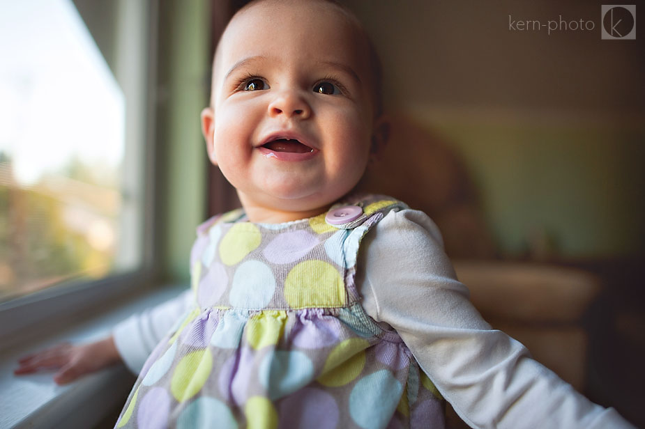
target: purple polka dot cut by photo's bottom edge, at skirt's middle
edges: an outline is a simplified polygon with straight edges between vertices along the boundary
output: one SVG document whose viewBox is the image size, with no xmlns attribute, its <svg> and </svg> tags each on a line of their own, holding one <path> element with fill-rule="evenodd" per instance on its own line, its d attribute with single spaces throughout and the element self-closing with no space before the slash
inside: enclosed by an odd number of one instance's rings
<svg viewBox="0 0 645 429">
<path fill-rule="evenodd" d="M 280 428 L 333 429 L 338 424 L 338 405 L 326 391 L 306 387 L 280 403 Z"/>
</svg>

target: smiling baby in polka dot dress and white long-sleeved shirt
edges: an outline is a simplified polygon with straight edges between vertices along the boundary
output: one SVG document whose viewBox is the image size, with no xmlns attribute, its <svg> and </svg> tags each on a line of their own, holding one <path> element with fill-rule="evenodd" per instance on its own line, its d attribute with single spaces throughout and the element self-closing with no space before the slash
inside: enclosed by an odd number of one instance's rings
<svg viewBox="0 0 645 429">
<path fill-rule="evenodd" d="M 124 361 L 117 428 L 440 428 L 444 400 L 475 428 L 631 427 L 480 318 L 423 212 L 352 193 L 387 137 L 378 70 L 332 1 L 236 13 L 202 128 L 243 208 L 197 229 L 190 291 L 17 373 Z"/>
</svg>

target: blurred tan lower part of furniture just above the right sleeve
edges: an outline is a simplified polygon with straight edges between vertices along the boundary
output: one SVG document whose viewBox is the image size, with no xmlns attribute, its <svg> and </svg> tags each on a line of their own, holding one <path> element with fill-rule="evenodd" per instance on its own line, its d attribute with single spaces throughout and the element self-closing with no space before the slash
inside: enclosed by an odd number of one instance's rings
<svg viewBox="0 0 645 429">
<path fill-rule="evenodd" d="M 598 276 L 543 263 L 457 259 L 453 265 L 492 327 L 584 391 L 589 338 L 582 321 L 600 292 Z"/>
</svg>

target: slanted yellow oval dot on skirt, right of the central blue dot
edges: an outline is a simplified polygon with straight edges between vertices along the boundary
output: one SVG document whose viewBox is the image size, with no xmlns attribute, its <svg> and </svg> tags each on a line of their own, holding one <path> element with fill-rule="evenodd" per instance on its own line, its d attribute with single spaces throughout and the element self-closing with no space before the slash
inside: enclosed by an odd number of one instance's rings
<svg viewBox="0 0 645 429">
<path fill-rule="evenodd" d="M 370 343 L 363 338 L 342 341 L 327 357 L 318 382 L 328 387 L 338 387 L 354 380 L 365 366 L 365 349 L 368 347 Z"/>
</svg>

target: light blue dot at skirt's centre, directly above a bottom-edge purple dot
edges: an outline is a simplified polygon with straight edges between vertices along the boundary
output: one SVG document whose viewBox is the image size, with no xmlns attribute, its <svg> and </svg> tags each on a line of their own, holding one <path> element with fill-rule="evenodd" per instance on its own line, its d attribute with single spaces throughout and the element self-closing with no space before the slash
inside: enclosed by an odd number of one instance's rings
<svg viewBox="0 0 645 429">
<path fill-rule="evenodd" d="M 269 398 L 278 399 L 312 382 L 314 364 L 303 352 L 275 350 L 262 360 L 258 376 Z"/>
</svg>

